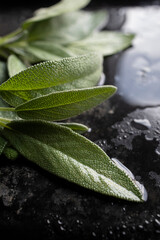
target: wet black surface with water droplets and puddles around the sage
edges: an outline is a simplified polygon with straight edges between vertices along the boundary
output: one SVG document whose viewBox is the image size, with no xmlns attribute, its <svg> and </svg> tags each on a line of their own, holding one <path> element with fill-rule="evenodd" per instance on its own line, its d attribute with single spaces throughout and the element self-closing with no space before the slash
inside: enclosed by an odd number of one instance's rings
<svg viewBox="0 0 160 240">
<path fill-rule="evenodd" d="M 0 232 L 6 238 L 160 239 L 160 7 L 110 8 L 110 13 L 109 29 L 121 27 L 137 37 L 132 48 L 104 61 L 106 84 L 118 86 L 117 94 L 74 120 L 90 126 L 86 137 L 132 171 L 148 200 L 103 196 L 25 159 L 1 159 Z"/>
</svg>

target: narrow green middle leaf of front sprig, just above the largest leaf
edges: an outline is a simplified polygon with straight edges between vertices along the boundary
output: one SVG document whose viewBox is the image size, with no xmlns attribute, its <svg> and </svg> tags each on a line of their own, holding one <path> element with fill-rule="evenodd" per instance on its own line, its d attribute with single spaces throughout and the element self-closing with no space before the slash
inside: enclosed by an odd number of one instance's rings
<svg viewBox="0 0 160 240">
<path fill-rule="evenodd" d="M 116 87 L 108 85 L 56 92 L 23 103 L 15 111 L 24 119 L 59 121 L 97 106 L 115 91 Z"/>
</svg>

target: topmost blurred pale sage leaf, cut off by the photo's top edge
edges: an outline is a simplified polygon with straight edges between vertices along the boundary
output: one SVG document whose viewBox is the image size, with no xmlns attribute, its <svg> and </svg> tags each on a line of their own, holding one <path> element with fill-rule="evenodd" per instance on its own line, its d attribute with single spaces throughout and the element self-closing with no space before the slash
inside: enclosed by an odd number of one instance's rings
<svg viewBox="0 0 160 240">
<path fill-rule="evenodd" d="M 46 19 L 53 18 L 66 12 L 76 11 L 80 8 L 85 7 L 89 2 L 90 0 L 61 0 L 59 3 L 51 7 L 38 9 L 35 12 L 35 16 L 27 19 L 23 23 L 22 27 L 23 29 L 27 29 L 35 22 L 44 21 Z"/>
</svg>

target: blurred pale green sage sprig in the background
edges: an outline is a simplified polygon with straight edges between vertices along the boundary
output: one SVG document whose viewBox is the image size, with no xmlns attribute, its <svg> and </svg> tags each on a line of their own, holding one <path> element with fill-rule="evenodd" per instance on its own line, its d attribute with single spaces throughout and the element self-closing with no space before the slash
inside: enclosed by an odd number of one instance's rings
<svg viewBox="0 0 160 240">
<path fill-rule="evenodd" d="M 129 47 L 133 34 L 101 31 L 108 19 L 105 10 L 80 10 L 89 2 L 62 0 L 37 10 L 18 30 L 0 38 L 0 56 L 17 54 L 30 64 L 92 51 L 108 56 Z"/>
</svg>

